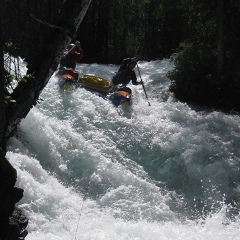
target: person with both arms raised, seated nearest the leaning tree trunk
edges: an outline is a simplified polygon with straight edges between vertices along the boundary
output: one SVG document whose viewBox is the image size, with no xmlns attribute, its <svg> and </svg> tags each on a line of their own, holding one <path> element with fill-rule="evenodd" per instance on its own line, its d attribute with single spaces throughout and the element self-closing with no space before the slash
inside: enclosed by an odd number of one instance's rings
<svg viewBox="0 0 240 240">
<path fill-rule="evenodd" d="M 69 44 L 60 60 L 60 72 L 62 74 L 68 73 L 72 75 L 74 79 L 78 79 L 78 72 L 75 71 L 75 68 L 77 62 L 80 61 L 83 57 L 84 53 L 79 41 L 76 41 L 75 44 Z"/>
</svg>

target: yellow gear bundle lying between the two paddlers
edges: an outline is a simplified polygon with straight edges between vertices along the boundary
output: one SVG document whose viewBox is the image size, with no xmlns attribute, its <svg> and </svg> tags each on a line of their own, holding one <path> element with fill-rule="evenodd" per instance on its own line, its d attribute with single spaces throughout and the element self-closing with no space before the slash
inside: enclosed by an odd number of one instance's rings
<svg viewBox="0 0 240 240">
<path fill-rule="evenodd" d="M 99 92 L 108 93 L 110 90 L 110 85 L 107 79 L 93 74 L 83 75 L 79 78 L 78 83 L 81 84 L 82 87 Z"/>
</svg>

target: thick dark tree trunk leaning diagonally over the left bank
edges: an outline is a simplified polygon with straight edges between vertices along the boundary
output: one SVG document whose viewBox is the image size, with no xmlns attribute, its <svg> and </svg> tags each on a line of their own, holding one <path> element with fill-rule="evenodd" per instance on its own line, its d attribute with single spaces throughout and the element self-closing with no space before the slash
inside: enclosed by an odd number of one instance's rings
<svg viewBox="0 0 240 240">
<path fill-rule="evenodd" d="M 91 0 L 64 2 L 59 18 L 55 23 L 61 28 L 53 29 L 52 35 L 46 36 L 46 47 L 42 49 L 41 55 L 34 56 L 33 60 L 28 63 L 28 73 L 34 76 L 34 80 L 20 82 L 11 95 L 12 99 L 16 100 L 16 104 L 7 108 L 5 141 L 11 136 L 21 119 L 36 104 L 41 91 L 57 69 L 63 50 L 75 37 L 90 4 Z"/>
</svg>

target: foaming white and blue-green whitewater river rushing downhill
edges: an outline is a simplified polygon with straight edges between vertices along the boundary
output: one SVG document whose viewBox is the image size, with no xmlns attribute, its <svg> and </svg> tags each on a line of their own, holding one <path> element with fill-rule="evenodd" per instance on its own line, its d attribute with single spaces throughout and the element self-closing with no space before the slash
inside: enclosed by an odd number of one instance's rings
<svg viewBox="0 0 240 240">
<path fill-rule="evenodd" d="M 77 70 L 110 80 L 118 67 Z M 8 142 L 27 240 L 240 239 L 240 116 L 177 102 L 172 67 L 139 62 L 151 106 L 141 85 L 116 108 L 51 78 Z"/>
</svg>

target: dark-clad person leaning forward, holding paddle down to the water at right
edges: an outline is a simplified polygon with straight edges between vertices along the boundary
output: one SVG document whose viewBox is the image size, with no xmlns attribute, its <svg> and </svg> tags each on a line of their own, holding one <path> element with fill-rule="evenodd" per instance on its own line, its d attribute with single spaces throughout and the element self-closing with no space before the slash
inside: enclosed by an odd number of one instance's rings
<svg viewBox="0 0 240 240">
<path fill-rule="evenodd" d="M 115 76 L 113 76 L 110 83 L 110 91 L 113 92 L 117 90 L 118 85 L 126 86 L 132 81 L 133 85 L 142 84 L 142 81 L 138 82 L 136 74 L 134 72 L 134 68 L 137 65 L 137 61 L 135 58 L 126 58 L 123 60 L 118 72 Z"/>
</svg>

